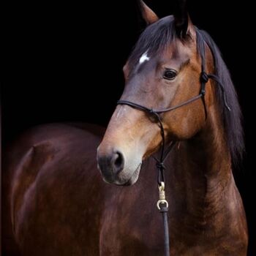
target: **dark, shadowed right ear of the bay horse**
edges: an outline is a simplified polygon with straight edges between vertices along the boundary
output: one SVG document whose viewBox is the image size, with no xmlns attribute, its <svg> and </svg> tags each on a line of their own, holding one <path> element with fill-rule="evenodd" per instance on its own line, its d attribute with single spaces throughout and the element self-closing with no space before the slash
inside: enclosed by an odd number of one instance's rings
<svg viewBox="0 0 256 256">
<path fill-rule="evenodd" d="M 189 15 L 186 0 L 175 0 L 173 2 L 173 16 L 178 37 L 186 37 L 189 27 Z"/>
</svg>

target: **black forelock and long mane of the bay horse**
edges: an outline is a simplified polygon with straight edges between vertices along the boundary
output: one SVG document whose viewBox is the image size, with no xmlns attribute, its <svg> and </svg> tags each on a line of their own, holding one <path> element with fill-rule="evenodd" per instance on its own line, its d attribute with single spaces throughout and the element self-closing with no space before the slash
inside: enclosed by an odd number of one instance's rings
<svg viewBox="0 0 256 256">
<path fill-rule="evenodd" d="M 135 49 L 132 51 L 131 56 L 129 56 L 129 64 L 135 65 L 140 59 L 140 56 L 146 51 L 148 51 L 149 55 L 154 55 L 168 47 L 176 38 L 173 20 L 173 16 L 167 16 L 153 23 L 151 26 L 148 26 L 140 35 Z M 217 102 L 222 114 L 227 146 L 230 150 L 232 162 L 236 165 L 240 162 L 244 154 L 244 132 L 241 125 L 242 115 L 236 90 L 230 78 L 230 72 L 214 40 L 206 31 L 195 29 L 197 33 L 197 53 L 200 56 L 205 56 L 205 45 L 208 45 L 214 56 L 214 73 L 225 87 L 227 103 L 231 111 L 225 108 L 222 91 L 219 89 L 219 86 L 217 86 Z"/>
</svg>

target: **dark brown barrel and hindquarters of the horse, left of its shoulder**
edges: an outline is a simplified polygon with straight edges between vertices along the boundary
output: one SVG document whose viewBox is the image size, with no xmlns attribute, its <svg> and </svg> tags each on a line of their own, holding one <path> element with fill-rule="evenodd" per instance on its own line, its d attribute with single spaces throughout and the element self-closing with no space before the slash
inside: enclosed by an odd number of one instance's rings
<svg viewBox="0 0 256 256">
<path fill-rule="evenodd" d="M 18 248 L 25 255 L 82 255 L 83 242 L 89 244 L 86 253 L 97 254 L 100 211 L 89 202 L 97 200 L 102 184 L 96 152 L 103 132 L 91 124 L 47 124 L 7 146 L 2 216 L 6 255 L 19 255 Z"/>
</svg>

